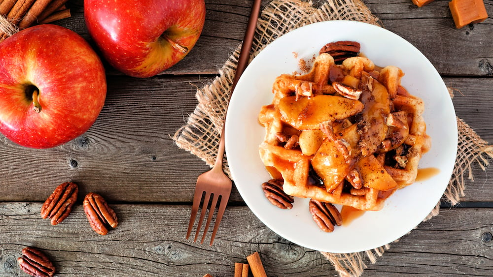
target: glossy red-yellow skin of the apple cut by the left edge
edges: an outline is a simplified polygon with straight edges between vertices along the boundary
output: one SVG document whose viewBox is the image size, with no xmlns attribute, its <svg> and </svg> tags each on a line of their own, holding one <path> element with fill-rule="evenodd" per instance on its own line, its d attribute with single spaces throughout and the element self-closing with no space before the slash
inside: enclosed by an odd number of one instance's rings
<svg viewBox="0 0 493 277">
<path fill-rule="evenodd" d="M 28 86 L 39 90 L 39 112 Z M 91 127 L 105 98 L 103 64 L 77 33 L 38 25 L 0 43 L 0 132 L 11 141 L 39 149 L 64 144 Z"/>
</svg>

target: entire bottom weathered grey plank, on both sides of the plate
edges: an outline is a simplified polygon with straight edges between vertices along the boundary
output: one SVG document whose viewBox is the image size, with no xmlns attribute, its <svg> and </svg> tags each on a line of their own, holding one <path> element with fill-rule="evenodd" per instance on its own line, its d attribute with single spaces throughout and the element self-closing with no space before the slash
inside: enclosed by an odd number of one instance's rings
<svg viewBox="0 0 493 277">
<path fill-rule="evenodd" d="M 80 205 L 57 226 L 40 218 L 40 206 L 0 203 L 0 276 L 20 274 L 15 258 L 25 246 L 45 251 L 63 276 L 233 276 L 234 263 L 254 251 L 269 276 L 337 274 L 319 252 L 279 237 L 246 207 L 226 210 L 209 246 L 184 239 L 189 206 L 112 205 L 120 223 L 106 236 L 92 231 Z M 493 242 L 482 236 L 493 231 L 492 216 L 491 208 L 442 210 L 392 244 L 364 276 L 489 275 Z"/>
</svg>

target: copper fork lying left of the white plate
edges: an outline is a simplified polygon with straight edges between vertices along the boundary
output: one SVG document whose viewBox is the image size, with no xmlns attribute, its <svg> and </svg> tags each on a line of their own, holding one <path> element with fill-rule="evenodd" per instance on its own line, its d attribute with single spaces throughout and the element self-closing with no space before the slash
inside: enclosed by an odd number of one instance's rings
<svg viewBox="0 0 493 277">
<path fill-rule="evenodd" d="M 246 64 L 248 63 L 248 57 L 250 55 L 253 34 L 255 32 L 259 11 L 260 11 L 260 0 L 254 0 L 250 13 L 250 18 L 248 20 L 248 26 L 245 32 L 245 37 L 243 39 L 243 44 L 240 51 L 240 56 L 238 59 L 238 65 L 236 67 L 235 78 L 233 80 L 233 85 L 231 87 L 230 96 L 233 93 L 233 90 L 235 89 L 238 79 L 240 79 L 241 74 L 245 70 Z M 202 228 L 202 223 L 204 222 L 204 218 L 206 215 L 207 207 L 209 206 L 209 202 L 212 198 L 206 227 L 204 229 L 204 233 L 200 241 L 201 244 L 204 243 L 207 230 L 209 229 L 209 226 L 211 224 L 212 215 L 214 214 L 215 207 L 217 205 L 217 202 L 219 201 L 218 199 L 220 198 L 219 208 L 217 209 L 217 214 L 216 214 L 216 221 L 214 224 L 214 229 L 212 230 L 210 245 L 212 245 L 212 242 L 214 241 L 215 234 L 217 232 L 217 229 L 219 228 L 219 223 L 221 222 L 222 216 L 224 215 L 224 211 L 226 210 L 226 205 L 228 204 L 229 195 L 231 194 L 231 188 L 233 186 L 229 177 L 226 176 L 226 174 L 224 174 L 222 170 L 223 157 L 224 157 L 224 126 L 222 128 L 221 139 L 219 140 L 219 149 L 217 151 L 217 156 L 214 166 L 210 171 L 201 174 L 197 178 L 197 185 L 195 185 L 195 194 L 193 196 L 192 214 L 190 215 L 190 222 L 188 223 L 188 230 L 186 233 L 187 240 L 190 237 L 190 233 L 192 232 L 192 228 L 195 223 L 195 218 L 199 210 L 199 205 L 202 200 L 202 196 L 204 195 L 202 211 L 200 213 L 199 223 L 197 225 L 197 231 L 195 232 L 194 242 L 196 242 L 197 238 L 199 237 L 199 233 Z"/>
</svg>

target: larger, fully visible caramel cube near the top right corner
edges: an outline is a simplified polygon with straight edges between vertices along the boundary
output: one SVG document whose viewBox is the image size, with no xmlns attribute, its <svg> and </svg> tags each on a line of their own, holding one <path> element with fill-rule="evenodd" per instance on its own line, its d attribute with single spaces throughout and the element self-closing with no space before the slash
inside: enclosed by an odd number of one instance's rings
<svg viewBox="0 0 493 277">
<path fill-rule="evenodd" d="M 452 0 L 449 7 L 458 29 L 488 18 L 483 0 Z"/>
</svg>

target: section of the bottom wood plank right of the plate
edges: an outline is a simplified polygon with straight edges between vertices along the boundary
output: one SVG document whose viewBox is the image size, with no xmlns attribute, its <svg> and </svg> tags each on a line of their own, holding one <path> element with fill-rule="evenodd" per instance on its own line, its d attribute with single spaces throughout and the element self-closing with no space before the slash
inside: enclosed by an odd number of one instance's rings
<svg viewBox="0 0 493 277">
<path fill-rule="evenodd" d="M 393 244 L 364 276 L 491 276 L 492 215 L 492 209 L 441 210 Z"/>
</svg>

